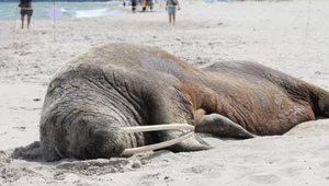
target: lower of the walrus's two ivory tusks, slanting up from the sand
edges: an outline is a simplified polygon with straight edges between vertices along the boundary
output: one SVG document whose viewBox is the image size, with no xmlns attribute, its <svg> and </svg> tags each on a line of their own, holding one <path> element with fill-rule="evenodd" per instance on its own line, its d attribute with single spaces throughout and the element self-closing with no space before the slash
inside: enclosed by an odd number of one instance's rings
<svg viewBox="0 0 329 186">
<path fill-rule="evenodd" d="M 175 144 L 189 137 L 191 137 L 192 135 L 194 135 L 194 131 L 190 131 L 188 133 L 184 133 L 183 136 L 169 140 L 169 141 L 164 141 L 164 142 L 159 142 L 156 144 L 149 144 L 149 146 L 145 146 L 145 147 L 139 147 L 139 148 L 131 148 L 131 149 L 126 149 L 124 150 L 121 155 L 132 155 L 134 153 L 139 153 L 139 152 L 146 152 L 146 151 L 152 151 L 152 150 L 157 150 L 157 149 L 161 149 L 161 148 L 166 148 L 172 144 Z"/>
</svg>

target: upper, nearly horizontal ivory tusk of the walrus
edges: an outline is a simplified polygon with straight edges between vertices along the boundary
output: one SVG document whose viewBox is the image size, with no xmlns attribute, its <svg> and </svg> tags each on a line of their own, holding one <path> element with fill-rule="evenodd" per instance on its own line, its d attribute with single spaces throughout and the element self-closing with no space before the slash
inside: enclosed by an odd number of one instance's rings
<svg viewBox="0 0 329 186">
<path fill-rule="evenodd" d="M 156 131 L 156 130 L 170 130 L 170 129 L 186 129 L 194 131 L 194 126 L 188 124 L 163 124 L 155 126 L 136 126 L 136 127 L 124 127 L 126 132 L 138 132 L 138 131 Z"/>
</svg>

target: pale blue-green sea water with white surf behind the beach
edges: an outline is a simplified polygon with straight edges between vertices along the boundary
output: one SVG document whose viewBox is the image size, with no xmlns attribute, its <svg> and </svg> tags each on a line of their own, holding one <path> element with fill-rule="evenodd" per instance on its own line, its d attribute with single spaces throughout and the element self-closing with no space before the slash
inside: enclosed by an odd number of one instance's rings
<svg viewBox="0 0 329 186">
<path fill-rule="evenodd" d="M 20 19 L 20 9 L 18 9 L 19 1 L 20 0 L 18 0 L 18 2 L 5 2 L 5 0 L 0 0 L 0 20 Z M 34 20 L 52 20 L 49 11 L 53 11 L 54 7 L 60 11 L 60 19 L 111 16 L 124 13 L 118 9 L 121 5 L 122 2 L 118 1 L 32 1 L 32 16 Z"/>
</svg>

